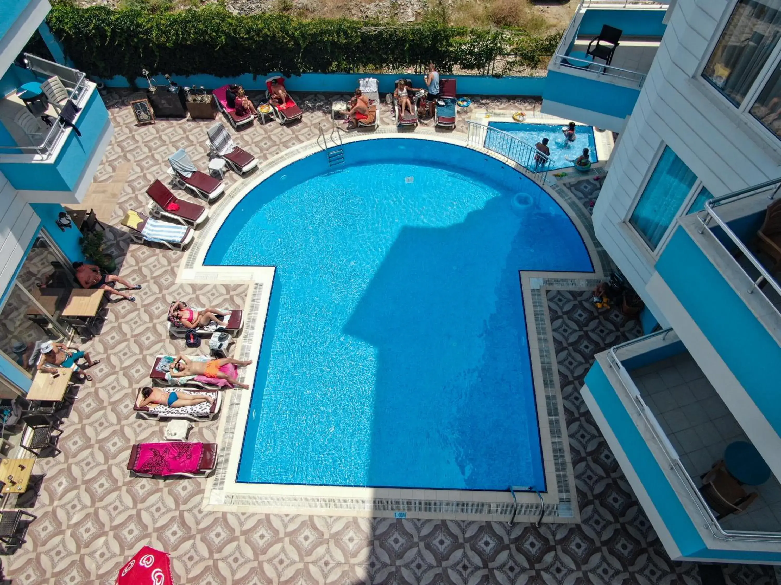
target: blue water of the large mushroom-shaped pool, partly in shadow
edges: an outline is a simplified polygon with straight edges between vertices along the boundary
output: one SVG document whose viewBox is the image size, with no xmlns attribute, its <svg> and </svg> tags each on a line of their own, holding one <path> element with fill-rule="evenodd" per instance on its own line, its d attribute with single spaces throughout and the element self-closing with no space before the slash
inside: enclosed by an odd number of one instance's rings
<svg viewBox="0 0 781 585">
<path fill-rule="evenodd" d="M 544 490 L 519 270 L 591 271 L 544 191 L 426 140 L 251 191 L 207 264 L 276 275 L 237 480 Z"/>
</svg>

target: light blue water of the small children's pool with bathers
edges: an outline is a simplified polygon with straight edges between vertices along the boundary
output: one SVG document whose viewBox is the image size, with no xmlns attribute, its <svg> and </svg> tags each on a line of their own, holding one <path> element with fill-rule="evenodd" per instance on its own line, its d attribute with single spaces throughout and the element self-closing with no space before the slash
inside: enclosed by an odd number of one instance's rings
<svg viewBox="0 0 781 585">
<path fill-rule="evenodd" d="M 576 126 L 575 140 L 568 142 L 562 134 L 561 125 L 553 124 L 529 124 L 523 122 L 489 122 L 488 126 L 496 128 L 502 132 L 511 134 L 520 138 L 526 144 L 534 146 L 541 142 L 543 138 L 550 141 L 547 146 L 551 149 L 550 163 L 548 170 L 571 167 L 575 165 L 575 159 L 583 153 L 583 148 L 589 149 L 589 158 L 591 163 L 597 162 L 597 147 L 594 144 L 594 129 L 591 126 Z M 486 138 L 488 142 L 490 136 Z M 486 146 L 491 147 L 490 144 Z M 501 143 L 491 147 L 493 150 L 501 152 Z"/>
</svg>

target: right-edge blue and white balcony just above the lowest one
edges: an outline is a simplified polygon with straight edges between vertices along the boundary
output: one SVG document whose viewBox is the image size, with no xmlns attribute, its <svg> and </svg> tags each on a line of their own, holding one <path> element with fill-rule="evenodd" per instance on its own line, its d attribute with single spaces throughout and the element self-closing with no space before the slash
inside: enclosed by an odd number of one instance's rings
<svg viewBox="0 0 781 585">
<path fill-rule="evenodd" d="M 757 236 L 779 186 L 781 179 L 729 193 L 682 218 L 647 284 L 697 362 L 720 372 L 717 392 L 757 445 L 781 436 L 781 286 L 774 273 L 781 264 Z M 770 457 L 781 466 L 781 456 Z"/>
</svg>

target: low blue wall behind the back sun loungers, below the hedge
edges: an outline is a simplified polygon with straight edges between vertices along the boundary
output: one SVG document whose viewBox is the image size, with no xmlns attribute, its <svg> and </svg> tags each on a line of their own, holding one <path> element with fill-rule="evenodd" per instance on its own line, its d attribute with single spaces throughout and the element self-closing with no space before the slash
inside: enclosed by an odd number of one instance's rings
<svg viewBox="0 0 781 585">
<path fill-rule="evenodd" d="M 245 90 L 265 90 L 267 76 L 253 79 L 249 73 L 235 77 L 216 77 L 212 75 L 172 76 L 171 79 L 182 86 L 214 89 L 228 83 L 238 83 Z M 390 93 L 394 89 L 394 81 L 403 77 L 401 74 L 387 73 L 303 73 L 285 80 L 285 87 L 291 91 L 311 91 L 321 93 L 351 93 L 358 87 L 362 77 L 375 77 L 380 81 L 380 92 Z M 412 79 L 415 87 L 426 87 L 422 75 L 407 76 Z M 458 95 L 542 95 L 545 77 L 486 77 L 479 75 L 442 75 L 455 77 L 458 80 Z M 157 83 L 166 83 L 162 74 L 155 76 Z M 130 87 L 122 76 L 114 76 L 109 80 L 100 80 L 108 87 Z M 138 87 L 148 87 L 144 77 L 137 77 Z"/>
</svg>

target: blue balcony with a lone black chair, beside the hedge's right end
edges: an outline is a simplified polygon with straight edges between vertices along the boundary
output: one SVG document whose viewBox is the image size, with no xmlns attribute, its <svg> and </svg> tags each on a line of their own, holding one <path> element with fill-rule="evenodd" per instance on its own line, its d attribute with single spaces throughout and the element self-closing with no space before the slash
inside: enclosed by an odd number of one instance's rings
<svg viewBox="0 0 781 585">
<path fill-rule="evenodd" d="M 548 64 L 542 111 L 620 132 L 662 42 L 666 2 L 583 0 Z M 611 64 L 587 57 L 603 25 L 622 30 Z"/>
</svg>

